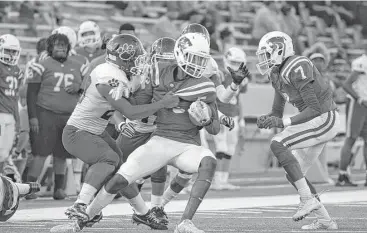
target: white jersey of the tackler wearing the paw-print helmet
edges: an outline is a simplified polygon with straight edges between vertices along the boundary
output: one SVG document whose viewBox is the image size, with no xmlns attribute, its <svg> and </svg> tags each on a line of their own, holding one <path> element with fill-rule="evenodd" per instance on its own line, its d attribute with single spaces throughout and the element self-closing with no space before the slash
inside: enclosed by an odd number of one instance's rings
<svg viewBox="0 0 367 233">
<path fill-rule="evenodd" d="M 130 86 L 130 83 L 124 71 L 108 63 L 98 65 L 90 74 L 90 78 L 91 84 L 84 92 L 67 124 L 100 135 L 106 129 L 115 109 L 98 92 L 96 85 L 116 86 L 117 82 L 123 82 Z"/>
</svg>

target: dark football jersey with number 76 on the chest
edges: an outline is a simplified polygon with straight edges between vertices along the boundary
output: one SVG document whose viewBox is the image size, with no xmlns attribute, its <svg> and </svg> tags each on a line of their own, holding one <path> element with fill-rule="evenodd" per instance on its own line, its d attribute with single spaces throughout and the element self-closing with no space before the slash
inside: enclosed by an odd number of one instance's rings
<svg viewBox="0 0 367 233">
<path fill-rule="evenodd" d="M 33 63 L 33 77 L 28 83 L 40 83 L 37 105 L 56 113 L 71 113 L 78 102 L 79 94 L 69 94 L 65 87 L 81 84 L 87 72 L 88 61 L 72 55 L 60 63 L 51 57 Z"/>
</svg>

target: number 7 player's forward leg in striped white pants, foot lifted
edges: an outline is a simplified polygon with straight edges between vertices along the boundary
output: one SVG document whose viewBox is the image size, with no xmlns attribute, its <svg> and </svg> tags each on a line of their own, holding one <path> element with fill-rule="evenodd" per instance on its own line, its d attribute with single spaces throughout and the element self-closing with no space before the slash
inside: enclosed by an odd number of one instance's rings
<svg viewBox="0 0 367 233">
<path fill-rule="evenodd" d="M 303 175 L 300 163 L 292 154 L 292 150 L 309 148 L 327 142 L 339 131 L 339 114 L 331 111 L 322 114 L 303 124 L 289 126 L 272 139 L 270 148 L 294 182 L 301 196 L 300 208 L 293 216 L 295 221 L 301 220 L 312 211 L 321 207 Z"/>
</svg>

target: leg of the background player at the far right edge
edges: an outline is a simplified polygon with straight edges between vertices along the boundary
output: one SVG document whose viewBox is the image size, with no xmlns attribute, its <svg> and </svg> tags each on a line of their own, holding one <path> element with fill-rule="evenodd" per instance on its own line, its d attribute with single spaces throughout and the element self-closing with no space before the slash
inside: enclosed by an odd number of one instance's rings
<svg viewBox="0 0 367 233">
<path fill-rule="evenodd" d="M 367 111 L 364 107 L 359 105 L 354 99 L 348 98 L 346 138 L 340 152 L 339 177 L 336 186 L 357 186 L 357 184 L 350 181 L 347 170 L 353 158 L 352 148 L 361 134 L 366 116 Z"/>
</svg>

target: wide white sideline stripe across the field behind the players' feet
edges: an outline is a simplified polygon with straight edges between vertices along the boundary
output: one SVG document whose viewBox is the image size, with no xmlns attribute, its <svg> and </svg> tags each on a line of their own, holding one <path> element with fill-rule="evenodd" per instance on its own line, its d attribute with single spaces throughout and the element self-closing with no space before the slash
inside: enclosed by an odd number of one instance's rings
<svg viewBox="0 0 367 233">
<path fill-rule="evenodd" d="M 342 192 L 328 192 L 322 195 L 324 204 L 350 203 L 367 201 L 367 190 L 354 190 Z M 173 201 L 169 203 L 165 210 L 167 212 L 182 212 L 186 207 L 187 200 Z M 256 208 L 267 206 L 297 205 L 298 195 L 280 195 L 263 197 L 234 197 L 234 198 L 210 198 L 204 199 L 199 211 L 205 210 L 226 210 L 239 208 Z M 148 204 L 150 206 L 150 203 Z M 34 220 L 54 220 L 65 219 L 65 207 L 42 208 L 19 210 L 12 217 L 11 221 L 34 221 Z M 111 204 L 103 210 L 104 216 L 130 215 L 131 206 L 128 203 Z"/>
</svg>

